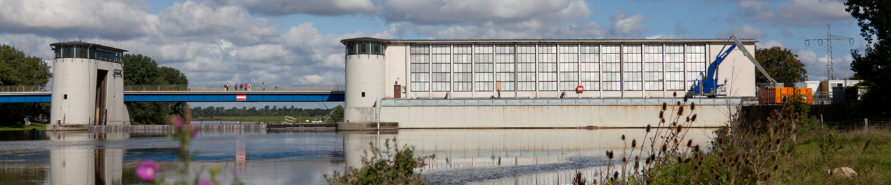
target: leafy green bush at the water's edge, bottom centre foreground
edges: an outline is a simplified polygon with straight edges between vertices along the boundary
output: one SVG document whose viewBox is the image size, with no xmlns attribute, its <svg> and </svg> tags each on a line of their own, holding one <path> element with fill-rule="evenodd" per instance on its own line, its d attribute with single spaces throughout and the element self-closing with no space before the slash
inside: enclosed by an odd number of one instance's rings
<svg viewBox="0 0 891 185">
<path fill-rule="evenodd" d="M 334 171 L 331 177 L 324 174 L 328 184 L 425 184 L 421 172 L 415 172 L 415 168 L 427 166 L 424 160 L 436 158 L 436 155 L 414 157 L 414 147 L 404 145 L 397 149 L 398 143 L 393 138 L 384 142 L 385 150 L 368 143 L 370 149 L 365 150 L 362 156 L 362 166 L 354 169 L 352 166 L 344 173 Z M 382 155 L 386 158 L 380 158 Z"/>
</svg>

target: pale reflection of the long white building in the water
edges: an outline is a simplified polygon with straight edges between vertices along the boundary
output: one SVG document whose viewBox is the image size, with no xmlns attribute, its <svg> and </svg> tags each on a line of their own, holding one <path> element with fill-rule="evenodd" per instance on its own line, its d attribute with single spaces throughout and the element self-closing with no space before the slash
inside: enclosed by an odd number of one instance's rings
<svg viewBox="0 0 891 185">
<path fill-rule="evenodd" d="M 686 138 L 710 148 L 713 128 L 690 129 Z M 369 143 L 383 146 L 396 138 L 400 146 L 415 147 L 415 154 L 436 154 L 423 169 L 434 183 L 565 184 L 576 170 L 591 180 L 608 162 L 614 150 L 621 163 L 636 140 L 639 152 L 644 140 L 654 134 L 644 129 L 403 129 L 394 133 L 339 132 L 344 141 L 346 166 L 361 166 Z M 622 135 L 625 135 L 623 141 Z M 658 145 L 657 145 L 658 146 Z M 636 155 L 626 154 L 629 158 Z M 632 162 L 634 164 L 634 162 Z M 614 168 L 615 169 L 615 168 Z"/>
</svg>

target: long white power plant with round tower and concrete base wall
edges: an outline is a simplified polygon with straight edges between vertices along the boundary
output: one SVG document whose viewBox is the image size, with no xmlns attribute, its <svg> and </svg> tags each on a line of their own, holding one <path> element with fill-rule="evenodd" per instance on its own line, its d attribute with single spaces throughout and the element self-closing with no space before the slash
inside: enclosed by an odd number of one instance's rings
<svg viewBox="0 0 891 185">
<path fill-rule="evenodd" d="M 756 40 L 740 40 L 755 50 Z M 677 109 L 728 39 L 387 40 L 346 46 L 350 122 L 400 128 L 646 127 Z M 696 127 L 723 126 L 756 96 L 755 66 L 717 66 L 726 96 L 692 97 Z M 674 94 L 677 96 L 675 97 Z M 688 109 L 689 112 L 689 109 Z"/>
</svg>

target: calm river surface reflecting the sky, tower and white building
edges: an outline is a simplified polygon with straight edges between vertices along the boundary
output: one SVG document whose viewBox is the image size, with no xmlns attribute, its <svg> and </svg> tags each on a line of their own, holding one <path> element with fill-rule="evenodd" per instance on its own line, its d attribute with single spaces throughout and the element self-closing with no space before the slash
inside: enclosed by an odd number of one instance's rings
<svg viewBox="0 0 891 185">
<path fill-rule="evenodd" d="M 708 148 L 712 131 L 691 129 L 688 137 Z M 141 159 L 158 161 L 161 173 L 177 176 L 178 143 L 165 138 L 168 132 L 7 134 L 0 133 L 0 184 L 142 183 L 133 173 Z M 607 162 L 605 150 L 621 154 L 645 134 L 643 129 L 202 130 L 192 143 L 192 153 L 198 154 L 192 167 L 223 167 L 225 182 L 237 177 L 247 184 L 323 184 L 324 173 L 361 164 L 369 143 L 383 146 L 395 137 L 419 154 L 437 155 L 423 168 L 437 184 L 564 184 L 576 170 L 591 179 Z"/>
</svg>

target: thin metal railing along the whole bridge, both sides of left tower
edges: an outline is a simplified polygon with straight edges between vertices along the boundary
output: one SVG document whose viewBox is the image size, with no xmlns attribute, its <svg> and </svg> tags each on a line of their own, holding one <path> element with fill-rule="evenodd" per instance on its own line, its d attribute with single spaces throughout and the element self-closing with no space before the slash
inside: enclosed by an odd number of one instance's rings
<svg viewBox="0 0 891 185">
<path fill-rule="evenodd" d="M 252 85 L 253 86 L 253 85 Z M 225 91 L 224 84 L 218 85 L 125 85 L 124 91 Z M 230 84 L 232 91 L 346 91 L 347 85 L 275 85 L 253 86 L 250 89 L 236 89 Z M 53 86 L 0 86 L 0 92 L 52 92 Z"/>
</svg>

